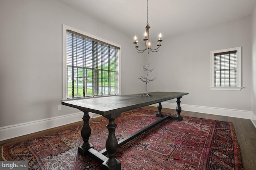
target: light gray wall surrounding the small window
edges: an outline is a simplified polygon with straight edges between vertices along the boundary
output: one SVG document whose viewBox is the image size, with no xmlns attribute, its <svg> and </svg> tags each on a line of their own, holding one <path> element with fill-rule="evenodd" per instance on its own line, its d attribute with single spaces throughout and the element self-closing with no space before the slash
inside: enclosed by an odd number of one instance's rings
<svg viewBox="0 0 256 170">
<path fill-rule="evenodd" d="M 250 23 L 251 18 L 247 16 L 173 37 L 163 37 L 162 49 L 149 58 L 149 63 L 155 68 L 157 80 L 152 82 L 150 90 L 188 92 L 189 95 L 181 99 L 181 104 L 235 109 L 250 114 Z M 241 91 L 210 90 L 210 51 L 240 46 L 244 88 Z"/>
</svg>

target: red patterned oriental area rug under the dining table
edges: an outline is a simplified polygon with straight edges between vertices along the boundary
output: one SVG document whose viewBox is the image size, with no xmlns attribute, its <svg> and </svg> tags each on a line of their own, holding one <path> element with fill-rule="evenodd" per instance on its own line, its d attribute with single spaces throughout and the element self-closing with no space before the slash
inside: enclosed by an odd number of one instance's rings
<svg viewBox="0 0 256 170">
<path fill-rule="evenodd" d="M 118 141 L 160 119 L 156 111 L 136 109 L 116 119 Z M 108 137 L 104 117 L 92 121 L 89 142 L 104 149 Z M 82 125 L 2 147 L 4 160 L 26 160 L 30 170 L 101 169 L 78 154 Z M 122 170 L 239 170 L 242 157 L 232 123 L 183 116 L 167 119 L 117 149 Z"/>
</svg>

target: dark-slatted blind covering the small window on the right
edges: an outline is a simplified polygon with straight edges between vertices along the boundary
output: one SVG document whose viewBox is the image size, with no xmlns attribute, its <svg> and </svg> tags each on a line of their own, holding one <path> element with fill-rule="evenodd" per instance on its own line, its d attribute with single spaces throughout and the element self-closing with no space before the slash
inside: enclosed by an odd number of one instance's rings
<svg viewBox="0 0 256 170">
<path fill-rule="evenodd" d="M 214 86 L 237 86 L 237 51 L 214 53 Z"/>
</svg>

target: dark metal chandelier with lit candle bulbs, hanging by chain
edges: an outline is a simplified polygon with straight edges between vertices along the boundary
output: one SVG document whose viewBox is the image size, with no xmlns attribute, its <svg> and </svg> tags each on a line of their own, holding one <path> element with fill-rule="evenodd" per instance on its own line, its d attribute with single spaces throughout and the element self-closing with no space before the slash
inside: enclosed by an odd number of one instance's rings
<svg viewBox="0 0 256 170">
<path fill-rule="evenodd" d="M 148 16 L 148 10 L 147 10 L 147 16 Z M 159 39 L 157 41 L 158 42 L 157 48 L 156 49 L 151 49 L 150 42 L 149 42 L 149 29 L 150 29 L 150 26 L 148 25 L 148 20 L 147 20 L 147 25 L 146 25 L 145 29 L 146 29 L 145 34 L 144 34 L 145 38 L 143 39 L 143 41 L 145 41 L 145 49 L 143 49 L 143 50 L 139 50 L 138 49 L 138 47 L 139 47 L 138 46 L 138 39 L 137 39 L 136 36 L 134 37 L 134 40 L 135 40 L 134 44 L 135 44 L 135 48 L 136 48 L 137 52 L 138 53 L 143 53 L 146 50 L 148 51 L 148 54 L 149 54 L 150 51 L 158 52 L 159 49 L 160 49 L 160 46 L 161 46 L 161 42 L 163 41 L 161 39 L 161 36 L 162 36 L 161 33 L 159 34 Z"/>
</svg>

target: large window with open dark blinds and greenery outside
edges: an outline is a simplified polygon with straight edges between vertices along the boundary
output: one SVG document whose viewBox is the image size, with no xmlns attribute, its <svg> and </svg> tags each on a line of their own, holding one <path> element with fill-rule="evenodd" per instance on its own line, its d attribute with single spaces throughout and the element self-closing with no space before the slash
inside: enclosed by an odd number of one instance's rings
<svg viewBox="0 0 256 170">
<path fill-rule="evenodd" d="M 120 47 L 74 29 L 66 31 L 64 99 L 119 94 Z"/>
</svg>

